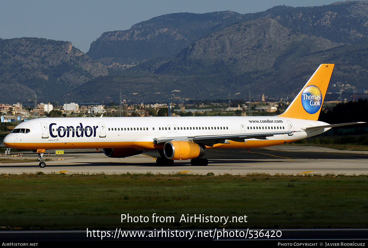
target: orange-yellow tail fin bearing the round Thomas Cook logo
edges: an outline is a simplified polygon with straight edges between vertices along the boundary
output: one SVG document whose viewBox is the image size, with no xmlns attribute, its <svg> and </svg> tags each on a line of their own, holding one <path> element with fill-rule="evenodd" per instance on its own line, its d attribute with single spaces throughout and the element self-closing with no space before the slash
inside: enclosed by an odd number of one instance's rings
<svg viewBox="0 0 368 248">
<path fill-rule="evenodd" d="M 335 64 L 321 64 L 280 117 L 318 120 Z"/>
</svg>

